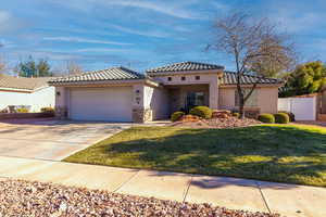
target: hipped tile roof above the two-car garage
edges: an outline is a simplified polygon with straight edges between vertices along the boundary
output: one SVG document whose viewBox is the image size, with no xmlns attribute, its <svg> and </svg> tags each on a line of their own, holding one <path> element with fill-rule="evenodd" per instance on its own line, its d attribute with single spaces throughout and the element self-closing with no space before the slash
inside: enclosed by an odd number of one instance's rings
<svg viewBox="0 0 326 217">
<path fill-rule="evenodd" d="M 130 79 L 143 79 L 145 75 L 136 73 L 125 67 L 112 67 L 102 71 L 95 71 L 89 73 L 83 73 L 80 75 L 73 75 L 66 77 L 60 77 L 50 80 L 49 84 L 60 82 L 80 82 L 80 81 L 104 81 L 104 80 L 130 80 Z"/>
</svg>

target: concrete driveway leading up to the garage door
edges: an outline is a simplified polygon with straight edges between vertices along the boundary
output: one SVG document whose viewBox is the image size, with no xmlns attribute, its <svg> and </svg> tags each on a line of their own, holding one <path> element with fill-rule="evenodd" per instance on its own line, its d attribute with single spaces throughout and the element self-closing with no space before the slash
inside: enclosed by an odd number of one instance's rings
<svg viewBox="0 0 326 217">
<path fill-rule="evenodd" d="M 129 127 L 51 119 L 0 123 L 0 156 L 61 161 Z"/>
</svg>

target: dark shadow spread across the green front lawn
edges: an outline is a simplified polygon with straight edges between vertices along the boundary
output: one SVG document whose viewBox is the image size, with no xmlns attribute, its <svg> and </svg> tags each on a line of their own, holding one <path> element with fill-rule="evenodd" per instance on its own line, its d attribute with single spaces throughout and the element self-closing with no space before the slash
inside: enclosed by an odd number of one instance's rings
<svg viewBox="0 0 326 217">
<path fill-rule="evenodd" d="M 326 186 L 326 135 L 291 127 L 179 129 L 170 137 L 110 144 L 105 151 L 111 155 L 137 153 L 136 161 L 151 169 L 303 184 L 313 180 Z M 129 164 L 124 166 L 135 166 Z M 218 188 L 242 182 L 231 178 L 216 182 L 210 178 L 193 184 Z M 256 184 L 252 180 L 244 183 Z"/>
</svg>

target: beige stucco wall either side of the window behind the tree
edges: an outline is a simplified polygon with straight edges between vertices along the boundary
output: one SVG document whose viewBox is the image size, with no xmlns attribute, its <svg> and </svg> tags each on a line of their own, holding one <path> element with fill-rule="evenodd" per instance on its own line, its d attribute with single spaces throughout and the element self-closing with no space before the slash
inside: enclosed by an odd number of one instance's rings
<svg viewBox="0 0 326 217">
<path fill-rule="evenodd" d="M 258 108 L 261 113 L 277 113 L 278 88 L 258 87 L 256 88 Z M 220 88 L 218 106 L 222 110 L 235 110 L 236 87 Z"/>
</svg>

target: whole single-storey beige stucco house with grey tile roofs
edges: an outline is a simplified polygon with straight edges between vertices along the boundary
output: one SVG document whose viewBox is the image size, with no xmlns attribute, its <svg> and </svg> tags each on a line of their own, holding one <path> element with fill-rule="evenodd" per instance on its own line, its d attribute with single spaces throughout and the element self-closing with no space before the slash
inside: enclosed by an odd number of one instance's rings
<svg viewBox="0 0 326 217">
<path fill-rule="evenodd" d="M 167 118 L 178 110 L 206 105 L 237 110 L 236 74 L 223 66 L 183 62 L 148 69 L 147 75 L 125 67 L 67 76 L 55 87 L 58 116 L 79 120 L 147 122 Z M 250 88 L 258 77 L 244 76 Z M 276 113 L 278 79 L 260 80 L 246 110 Z"/>
</svg>

